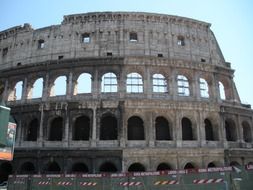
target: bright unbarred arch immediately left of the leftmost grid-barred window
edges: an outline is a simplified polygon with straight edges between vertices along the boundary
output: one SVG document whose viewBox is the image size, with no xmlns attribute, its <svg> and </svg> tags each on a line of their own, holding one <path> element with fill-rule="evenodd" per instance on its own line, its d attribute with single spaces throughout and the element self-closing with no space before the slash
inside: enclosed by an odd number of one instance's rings
<svg viewBox="0 0 253 190">
<path fill-rule="evenodd" d="M 91 75 L 82 73 L 77 79 L 77 94 L 91 93 Z"/>
</svg>

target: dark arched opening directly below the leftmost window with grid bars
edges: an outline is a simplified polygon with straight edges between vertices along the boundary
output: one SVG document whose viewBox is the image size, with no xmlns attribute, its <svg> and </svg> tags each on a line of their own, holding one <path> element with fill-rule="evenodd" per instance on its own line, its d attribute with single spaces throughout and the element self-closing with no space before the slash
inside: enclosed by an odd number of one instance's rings
<svg viewBox="0 0 253 190">
<path fill-rule="evenodd" d="M 117 140 L 118 121 L 114 116 L 104 116 L 101 119 L 100 140 Z"/>
</svg>

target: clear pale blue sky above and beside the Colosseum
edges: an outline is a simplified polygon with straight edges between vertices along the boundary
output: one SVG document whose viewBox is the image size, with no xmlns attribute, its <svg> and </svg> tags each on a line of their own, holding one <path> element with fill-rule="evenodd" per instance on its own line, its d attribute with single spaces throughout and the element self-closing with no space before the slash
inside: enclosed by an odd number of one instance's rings
<svg viewBox="0 0 253 190">
<path fill-rule="evenodd" d="M 140 11 L 209 22 L 225 60 L 235 69 L 243 103 L 253 106 L 252 0 L 3 0 L 0 31 L 30 23 L 34 29 L 60 24 L 64 15 L 97 11 Z"/>
</svg>

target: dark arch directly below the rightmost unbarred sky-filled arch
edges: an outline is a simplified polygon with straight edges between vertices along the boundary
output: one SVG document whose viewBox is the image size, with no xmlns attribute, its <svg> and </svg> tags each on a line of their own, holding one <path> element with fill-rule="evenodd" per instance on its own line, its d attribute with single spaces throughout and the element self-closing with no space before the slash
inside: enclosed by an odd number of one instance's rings
<svg viewBox="0 0 253 190">
<path fill-rule="evenodd" d="M 87 141 L 90 138 L 90 118 L 87 116 L 80 116 L 76 118 L 73 127 L 72 139 Z"/>
</svg>

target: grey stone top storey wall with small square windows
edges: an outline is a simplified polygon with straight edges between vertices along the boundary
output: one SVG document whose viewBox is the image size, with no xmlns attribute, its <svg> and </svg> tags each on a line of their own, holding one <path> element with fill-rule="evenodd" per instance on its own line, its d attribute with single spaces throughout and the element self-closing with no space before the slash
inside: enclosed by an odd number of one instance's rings
<svg viewBox="0 0 253 190">
<path fill-rule="evenodd" d="M 130 40 L 131 33 L 137 35 L 136 41 Z M 82 41 L 85 34 L 89 36 L 88 43 Z M 227 66 L 210 24 L 149 13 L 70 15 L 64 17 L 61 25 L 37 30 L 25 24 L 0 32 L 0 54 L 1 69 L 108 55 L 162 56 Z"/>
</svg>

